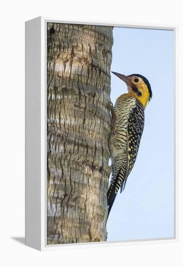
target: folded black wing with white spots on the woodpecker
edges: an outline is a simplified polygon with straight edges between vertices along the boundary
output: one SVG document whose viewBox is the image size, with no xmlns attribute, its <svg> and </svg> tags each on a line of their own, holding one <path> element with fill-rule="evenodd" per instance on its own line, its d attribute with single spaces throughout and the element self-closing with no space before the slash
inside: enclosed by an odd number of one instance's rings
<svg viewBox="0 0 183 267">
<path fill-rule="evenodd" d="M 130 174 L 135 164 L 143 130 L 144 130 L 144 108 L 141 102 L 139 100 L 136 100 L 136 106 L 131 111 L 128 117 L 127 171 L 124 184 L 122 184 L 121 186 L 121 191 L 124 189 L 128 175 Z"/>
</svg>

